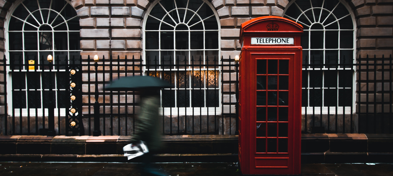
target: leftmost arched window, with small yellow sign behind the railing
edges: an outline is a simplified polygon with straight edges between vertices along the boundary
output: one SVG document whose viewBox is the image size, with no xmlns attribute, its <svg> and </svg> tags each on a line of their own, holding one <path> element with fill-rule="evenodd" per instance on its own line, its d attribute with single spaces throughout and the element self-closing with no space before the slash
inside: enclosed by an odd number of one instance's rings
<svg viewBox="0 0 393 176">
<path fill-rule="evenodd" d="M 43 70 L 49 68 L 35 66 L 35 72 L 28 72 L 31 69 L 27 66 L 13 64 L 28 64 L 31 60 L 41 64 L 41 58 L 46 60 L 48 55 L 55 56 L 55 63 L 59 56 L 61 64 L 68 63 L 72 56 L 79 58 L 79 17 L 66 0 L 24 0 L 15 7 L 6 26 L 7 59 L 10 69 L 18 71 L 11 75 L 12 105 L 13 108 L 47 108 L 49 74 Z M 65 90 L 69 72 L 63 71 L 52 72 L 55 108 L 65 108 L 68 102 Z"/>
</svg>

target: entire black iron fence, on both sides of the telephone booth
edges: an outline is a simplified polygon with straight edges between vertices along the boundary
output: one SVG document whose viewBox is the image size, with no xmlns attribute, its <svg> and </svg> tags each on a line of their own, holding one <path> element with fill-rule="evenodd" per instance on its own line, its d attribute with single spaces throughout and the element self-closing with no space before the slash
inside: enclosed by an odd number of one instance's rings
<svg viewBox="0 0 393 176">
<path fill-rule="evenodd" d="M 391 56 L 303 58 L 303 133 L 393 132 Z M 132 135 L 138 93 L 104 90 L 119 77 L 136 75 L 174 86 L 160 91 L 164 134 L 237 134 L 237 63 L 181 56 L 141 61 L 19 56 L 3 62 L 3 134 Z"/>
</svg>

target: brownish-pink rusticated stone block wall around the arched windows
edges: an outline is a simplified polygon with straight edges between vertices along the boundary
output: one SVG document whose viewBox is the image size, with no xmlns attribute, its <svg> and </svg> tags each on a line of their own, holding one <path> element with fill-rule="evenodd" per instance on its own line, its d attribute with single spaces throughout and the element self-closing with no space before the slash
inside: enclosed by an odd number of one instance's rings
<svg viewBox="0 0 393 176">
<path fill-rule="evenodd" d="M 168 0 L 162 0 L 162 2 L 164 1 Z M 11 14 L 15 13 L 12 10 L 15 10 L 15 6 L 18 6 L 21 2 L 23 1 L 0 0 L 0 26 L 2 28 L 2 31 L 0 31 L 0 38 L 3 39 L 2 42 L 0 42 L 0 49 L 2 50 L 2 55 L 5 54 L 6 57 L 9 55 L 9 47 L 7 46 L 9 45 L 9 41 L 7 41 L 9 19 L 11 18 Z M 125 56 L 127 56 L 128 59 L 134 57 L 137 63 L 146 62 L 146 40 L 144 38 L 146 33 L 145 25 L 149 13 L 151 13 L 153 7 L 156 6 L 158 2 L 161 2 L 160 0 L 72 0 L 70 2 L 66 0 L 66 2 L 72 5 L 79 18 L 79 26 L 81 28 L 79 30 L 79 50 L 84 63 L 87 62 L 88 55 L 90 55 L 90 57 L 98 55 L 100 58 L 103 56 L 106 59 L 112 55 L 115 60 L 117 56 L 119 56 L 119 59 L 121 59 L 120 62 L 122 63 L 124 62 Z M 187 2 L 187 0 L 184 2 Z M 224 64 L 234 62 L 233 58 L 235 55 L 240 54 L 241 44 L 239 43 L 239 33 L 243 22 L 259 16 L 271 15 L 286 17 L 285 14 L 290 6 L 296 6 L 295 3 L 309 3 L 309 1 L 304 0 L 203 0 L 203 2 L 212 9 L 214 13 L 213 18 L 217 20 L 219 26 L 219 53 L 217 57 L 222 57 L 224 59 Z M 310 4 L 328 2 L 330 3 L 330 0 L 311 0 Z M 351 39 L 353 41 L 349 41 L 354 46 L 351 50 L 353 51 L 352 59 L 358 58 L 359 55 L 376 55 L 377 58 L 381 58 L 382 55 L 388 57 L 392 54 L 393 0 L 334 0 L 334 3 L 341 3 L 343 7 L 347 9 L 350 22 L 354 24 L 354 35 Z M 299 7 L 299 9 L 301 8 Z M 142 58 L 142 61 L 140 61 L 140 58 Z M 230 58 L 231 60 L 229 60 Z M 94 68 L 92 69 L 94 70 Z M 109 81 L 109 77 L 107 75 L 103 76 L 101 70 L 102 67 L 98 68 L 100 91 L 102 91 L 103 81 Z M 124 72 L 121 73 L 121 75 L 124 74 Z M 380 75 L 381 74 L 377 74 L 377 77 L 380 77 Z M 229 105 L 230 101 L 236 102 L 234 93 L 235 84 L 229 83 L 229 79 L 235 80 L 235 76 L 236 73 L 234 68 L 224 68 L 222 106 L 224 106 L 223 111 L 226 114 L 235 112 L 235 105 Z M 2 78 L 3 76 L 0 75 L 0 77 Z M 385 78 L 387 77 L 389 76 L 387 75 Z M 356 80 L 358 79 L 355 73 L 354 85 L 357 85 Z M 87 73 L 84 73 L 83 81 L 83 92 L 88 92 L 89 88 L 91 90 L 90 92 L 94 92 L 95 86 L 93 84 L 88 85 Z M 91 73 L 90 81 L 95 81 L 94 73 Z M 360 85 L 360 88 L 363 89 L 365 86 L 366 85 Z M 377 85 L 369 84 L 369 86 L 374 89 Z M 357 87 L 358 86 L 356 86 L 356 88 Z M 386 88 L 388 87 L 389 85 L 387 85 Z M 355 95 L 356 92 L 352 94 Z M 381 94 L 378 93 L 378 95 Z M 4 97 L 4 95 L 2 96 Z M 386 99 L 388 98 L 387 96 Z M 88 95 L 85 94 L 83 103 L 87 103 L 88 99 Z M 114 95 L 114 100 L 115 99 L 118 99 L 117 95 Z M 129 97 L 127 97 L 127 99 L 129 99 Z M 128 102 L 138 102 L 138 99 L 138 97 L 136 97 L 135 100 L 129 99 Z M 94 95 L 90 97 L 90 100 L 92 102 L 95 101 Z M 4 99 L 2 99 L 2 101 L 4 101 Z M 9 99 L 9 101 L 11 100 Z M 353 98 L 354 107 L 356 101 L 358 100 Z M 99 103 L 102 102 L 102 95 L 100 95 Z M 132 108 L 130 110 L 132 110 Z M 87 113 L 88 111 L 88 107 L 84 106 L 83 112 Z M 91 107 L 90 111 L 94 111 L 93 107 Z M 359 109 L 355 111 L 357 112 Z M 235 121 L 235 117 L 232 118 L 231 120 Z M 312 122 L 304 121 L 303 126 L 305 123 L 308 124 Z M 220 134 L 229 134 L 229 128 L 235 127 L 229 127 L 228 125 L 228 127 L 226 127 L 226 132 L 220 132 Z M 234 131 L 235 130 L 232 129 L 231 134 L 235 134 Z M 303 131 L 311 132 L 311 129 L 303 127 Z M 354 132 L 358 131 L 354 130 Z"/>
</svg>

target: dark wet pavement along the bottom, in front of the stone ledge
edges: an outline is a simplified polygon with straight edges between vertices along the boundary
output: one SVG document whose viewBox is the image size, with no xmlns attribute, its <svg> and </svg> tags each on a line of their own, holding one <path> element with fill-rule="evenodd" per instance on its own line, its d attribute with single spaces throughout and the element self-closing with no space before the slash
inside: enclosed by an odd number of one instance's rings
<svg viewBox="0 0 393 176">
<path fill-rule="evenodd" d="M 236 163 L 154 163 L 168 176 L 238 176 Z M 302 164 L 302 176 L 393 176 L 393 164 Z M 140 176 L 138 163 L 0 162 L 0 176 Z"/>
</svg>

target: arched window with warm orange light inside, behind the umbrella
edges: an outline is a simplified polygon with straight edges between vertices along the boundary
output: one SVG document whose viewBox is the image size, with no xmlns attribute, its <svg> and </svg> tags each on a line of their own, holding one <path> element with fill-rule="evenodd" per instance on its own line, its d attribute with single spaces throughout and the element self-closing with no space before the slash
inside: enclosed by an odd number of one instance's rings
<svg viewBox="0 0 393 176">
<path fill-rule="evenodd" d="M 219 64 L 217 21 L 203 0 L 159 1 L 148 13 L 144 27 L 145 63 L 173 64 L 146 68 L 148 75 L 162 77 L 176 87 L 162 91 L 162 107 L 219 106 L 218 67 L 184 66 L 214 64 L 214 60 Z"/>
</svg>

